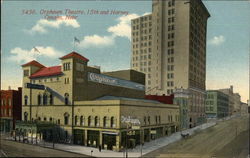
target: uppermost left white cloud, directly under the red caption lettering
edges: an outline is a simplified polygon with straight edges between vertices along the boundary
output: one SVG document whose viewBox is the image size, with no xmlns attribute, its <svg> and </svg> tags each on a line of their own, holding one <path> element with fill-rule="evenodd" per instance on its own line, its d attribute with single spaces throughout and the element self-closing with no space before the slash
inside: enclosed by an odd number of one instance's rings
<svg viewBox="0 0 250 158">
<path fill-rule="evenodd" d="M 30 29 L 26 30 L 28 33 L 47 33 L 47 28 L 60 28 L 62 25 L 70 26 L 73 28 L 79 28 L 80 24 L 76 19 L 67 19 L 66 16 L 60 16 L 56 20 L 40 19 L 37 23 Z"/>
</svg>

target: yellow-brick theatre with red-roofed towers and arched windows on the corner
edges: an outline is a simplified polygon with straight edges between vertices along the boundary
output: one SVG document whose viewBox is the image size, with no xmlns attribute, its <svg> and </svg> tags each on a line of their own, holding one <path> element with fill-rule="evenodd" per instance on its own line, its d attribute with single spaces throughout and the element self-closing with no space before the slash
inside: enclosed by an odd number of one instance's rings
<svg viewBox="0 0 250 158">
<path fill-rule="evenodd" d="M 179 130 L 177 105 L 144 99 L 143 73 L 101 73 L 76 52 L 60 59 L 61 66 L 22 65 L 17 134 L 120 151 Z"/>
</svg>

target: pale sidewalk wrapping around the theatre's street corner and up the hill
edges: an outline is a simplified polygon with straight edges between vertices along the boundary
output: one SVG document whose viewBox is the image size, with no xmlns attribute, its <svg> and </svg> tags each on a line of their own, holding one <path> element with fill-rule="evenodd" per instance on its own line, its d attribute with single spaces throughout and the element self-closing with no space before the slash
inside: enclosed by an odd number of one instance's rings
<svg viewBox="0 0 250 158">
<path fill-rule="evenodd" d="M 182 131 L 182 133 L 189 133 L 189 135 L 193 135 L 194 133 L 198 131 L 214 126 L 217 121 L 205 123 L 203 125 L 184 130 Z M 11 139 L 13 140 L 13 138 Z M 156 149 L 159 149 L 161 147 L 164 147 L 170 143 L 176 142 L 180 139 L 181 139 L 181 132 L 176 132 L 172 134 L 171 136 L 162 137 L 156 140 L 152 140 L 151 142 L 146 142 L 144 146 L 142 147 L 142 155 L 147 154 Z M 48 143 L 48 142 L 46 143 L 39 142 L 38 145 L 42 147 L 48 147 L 48 148 L 53 147 L 53 144 Z M 80 146 L 80 145 L 55 144 L 54 147 L 55 149 L 58 149 L 58 150 L 69 151 L 69 152 L 74 152 L 74 153 L 79 153 L 79 154 L 84 154 L 84 155 L 89 155 L 89 156 L 94 156 L 94 157 L 125 157 L 124 152 L 115 152 L 115 151 L 110 151 L 110 150 L 102 150 L 101 152 L 99 152 L 99 149 L 97 148 Z M 91 151 L 93 152 L 91 153 Z M 137 146 L 135 149 L 128 150 L 128 157 L 140 157 L 140 156 L 141 156 L 140 145 Z"/>
</svg>

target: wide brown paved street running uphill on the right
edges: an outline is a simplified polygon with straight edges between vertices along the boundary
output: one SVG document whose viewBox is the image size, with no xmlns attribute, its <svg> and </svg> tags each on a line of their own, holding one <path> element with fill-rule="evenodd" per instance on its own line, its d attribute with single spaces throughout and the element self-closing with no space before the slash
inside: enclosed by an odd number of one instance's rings
<svg viewBox="0 0 250 158">
<path fill-rule="evenodd" d="M 214 127 L 150 152 L 144 157 L 246 158 L 248 155 L 248 134 L 248 118 L 238 117 L 219 122 Z"/>
</svg>

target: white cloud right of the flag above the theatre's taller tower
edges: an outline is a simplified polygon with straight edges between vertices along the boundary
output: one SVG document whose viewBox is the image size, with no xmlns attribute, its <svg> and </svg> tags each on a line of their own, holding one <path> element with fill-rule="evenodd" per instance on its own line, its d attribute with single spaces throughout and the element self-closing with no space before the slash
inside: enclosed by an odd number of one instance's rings
<svg viewBox="0 0 250 158">
<path fill-rule="evenodd" d="M 85 36 L 79 44 L 77 44 L 80 48 L 88 48 L 88 47 L 104 47 L 110 46 L 114 44 L 114 36 Z"/>
</svg>

